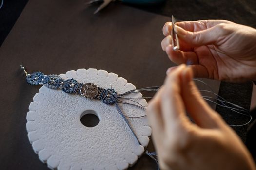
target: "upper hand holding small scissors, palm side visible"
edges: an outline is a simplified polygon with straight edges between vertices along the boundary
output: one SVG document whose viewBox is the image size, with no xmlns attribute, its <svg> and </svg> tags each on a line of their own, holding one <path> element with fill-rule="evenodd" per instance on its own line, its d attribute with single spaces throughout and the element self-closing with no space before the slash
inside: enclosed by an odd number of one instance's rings
<svg viewBox="0 0 256 170">
<path fill-rule="evenodd" d="M 171 22 L 163 27 L 162 49 L 174 63 L 191 65 L 195 77 L 256 80 L 256 29 L 226 20 L 177 22 L 179 51 L 170 44 L 171 29 Z"/>
</svg>

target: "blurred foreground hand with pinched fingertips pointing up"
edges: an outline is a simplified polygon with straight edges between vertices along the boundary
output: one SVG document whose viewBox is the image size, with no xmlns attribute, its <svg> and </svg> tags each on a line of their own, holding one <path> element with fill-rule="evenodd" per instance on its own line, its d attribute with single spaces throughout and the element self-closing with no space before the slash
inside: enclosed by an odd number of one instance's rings
<svg viewBox="0 0 256 170">
<path fill-rule="evenodd" d="M 169 72 L 147 112 L 161 169 L 255 170 L 241 140 L 201 98 L 190 67 Z"/>
</svg>

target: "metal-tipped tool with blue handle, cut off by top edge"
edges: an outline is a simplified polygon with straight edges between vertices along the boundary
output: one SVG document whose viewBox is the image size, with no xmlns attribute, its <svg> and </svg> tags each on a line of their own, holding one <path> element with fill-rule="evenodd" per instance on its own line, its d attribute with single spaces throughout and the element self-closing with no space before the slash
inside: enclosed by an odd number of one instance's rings
<svg viewBox="0 0 256 170">
<path fill-rule="evenodd" d="M 94 14 L 98 13 L 100 10 L 106 7 L 110 2 L 114 2 L 116 0 L 90 0 L 89 2 L 86 3 L 86 5 L 92 4 L 94 2 L 99 2 L 99 1 L 103 1 L 103 3 L 98 7 L 98 9 L 94 12 Z M 156 4 L 156 3 L 163 2 L 165 0 L 120 0 L 120 1 L 125 3 L 143 5 L 143 4 Z"/>
</svg>

